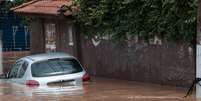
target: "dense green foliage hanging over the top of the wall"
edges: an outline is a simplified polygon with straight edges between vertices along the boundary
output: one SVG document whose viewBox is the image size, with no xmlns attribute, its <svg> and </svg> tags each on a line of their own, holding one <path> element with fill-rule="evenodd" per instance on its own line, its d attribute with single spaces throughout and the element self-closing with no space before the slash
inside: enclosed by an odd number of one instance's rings
<svg viewBox="0 0 201 101">
<path fill-rule="evenodd" d="M 196 36 L 196 0 L 74 0 L 75 15 L 85 34 L 127 34 L 148 39 L 192 41 Z"/>
</svg>

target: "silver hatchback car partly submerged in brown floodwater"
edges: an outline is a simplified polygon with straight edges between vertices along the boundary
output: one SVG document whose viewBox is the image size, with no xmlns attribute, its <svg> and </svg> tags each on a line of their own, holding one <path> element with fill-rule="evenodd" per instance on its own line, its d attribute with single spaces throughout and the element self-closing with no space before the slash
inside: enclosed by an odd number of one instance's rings
<svg viewBox="0 0 201 101">
<path fill-rule="evenodd" d="M 18 59 L 6 78 L 26 85 L 79 85 L 90 80 L 79 61 L 66 53 L 44 53 Z"/>
</svg>

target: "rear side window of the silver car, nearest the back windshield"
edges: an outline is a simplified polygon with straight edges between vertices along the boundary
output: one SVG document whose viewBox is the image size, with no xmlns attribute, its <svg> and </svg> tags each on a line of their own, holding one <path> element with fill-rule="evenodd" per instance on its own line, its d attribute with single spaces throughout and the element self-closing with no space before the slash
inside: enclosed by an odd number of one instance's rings
<svg viewBox="0 0 201 101">
<path fill-rule="evenodd" d="M 24 76 L 24 73 L 26 72 L 28 65 L 29 63 L 27 61 L 23 62 L 22 66 L 19 68 L 17 78 L 22 78 Z"/>
</svg>

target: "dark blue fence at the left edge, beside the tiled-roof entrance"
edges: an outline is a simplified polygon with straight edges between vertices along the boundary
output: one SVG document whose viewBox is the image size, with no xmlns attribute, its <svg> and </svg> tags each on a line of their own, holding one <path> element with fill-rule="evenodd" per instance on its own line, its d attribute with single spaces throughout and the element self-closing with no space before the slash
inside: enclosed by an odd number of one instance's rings
<svg viewBox="0 0 201 101">
<path fill-rule="evenodd" d="M 0 4 L 0 37 L 2 37 L 3 51 L 27 51 L 30 47 L 29 29 L 20 16 L 6 9 Z"/>
</svg>

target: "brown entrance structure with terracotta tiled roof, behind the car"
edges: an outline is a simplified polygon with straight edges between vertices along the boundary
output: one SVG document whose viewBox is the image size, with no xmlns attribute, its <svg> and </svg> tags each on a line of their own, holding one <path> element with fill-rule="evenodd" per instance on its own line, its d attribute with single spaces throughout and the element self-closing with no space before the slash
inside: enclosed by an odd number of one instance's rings
<svg viewBox="0 0 201 101">
<path fill-rule="evenodd" d="M 33 0 L 12 10 L 31 18 L 31 53 L 67 52 L 78 56 L 79 34 L 72 22 L 71 12 L 60 14 L 63 5 L 70 5 L 70 0 Z"/>
</svg>

